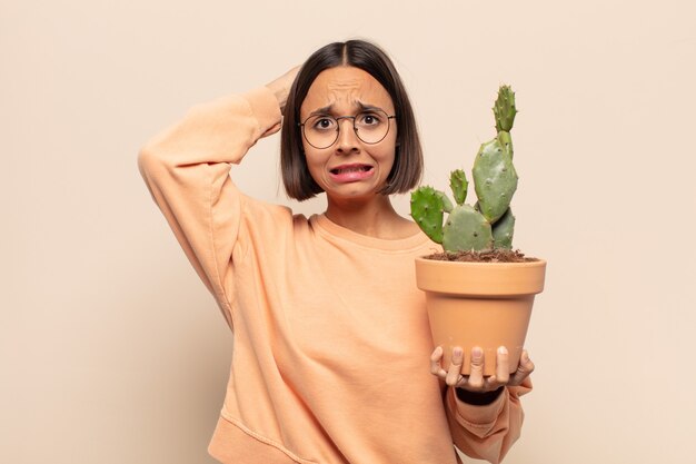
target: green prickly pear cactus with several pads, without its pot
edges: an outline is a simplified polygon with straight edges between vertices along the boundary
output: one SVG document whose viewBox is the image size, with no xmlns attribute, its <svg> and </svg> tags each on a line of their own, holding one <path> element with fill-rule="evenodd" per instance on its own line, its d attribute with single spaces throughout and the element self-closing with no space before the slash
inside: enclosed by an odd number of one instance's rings
<svg viewBox="0 0 696 464">
<path fill-rule="evenodd" d="M 476 155 L 473 177 L 478 201 L 474 206 L 465 204 L 468 180 L 461 169 L 454 170 L 449 179 L 456 206 L 445 192 L 429 186 L 411 192 L 411 217 L 445 251 L 513 247 L 515 216 L 510 200 L 517 189 L 517 172 L 510 130 L 517 109 L 509 86 L 499 88 L 493 112 L 497 135 Z"/>
</svg>

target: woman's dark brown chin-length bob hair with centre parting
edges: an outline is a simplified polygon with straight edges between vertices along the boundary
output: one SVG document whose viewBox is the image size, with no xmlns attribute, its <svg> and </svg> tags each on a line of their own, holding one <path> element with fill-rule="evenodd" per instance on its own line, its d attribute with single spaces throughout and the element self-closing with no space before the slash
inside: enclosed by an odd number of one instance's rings
<svg viewBox="0 0 696 464">
<path fill-rule="evenodd" d="M 321 71 L 352 66 L 372 76 L 389 93 L 397 120 L 394 167 L 382 195 L 405 194 L 416 187 L 422 175 L 422 149 L 411 103 L 394 63 L 379 47 L 364 40 L 329 43 L 315 51 L 302 65 L 288 95 L 280 135 L 280 170 L 290 198 L 306 200 L 324 191 L 307 168 L 300 131 L 300 107 L 309 87 Z"/>
</svg>

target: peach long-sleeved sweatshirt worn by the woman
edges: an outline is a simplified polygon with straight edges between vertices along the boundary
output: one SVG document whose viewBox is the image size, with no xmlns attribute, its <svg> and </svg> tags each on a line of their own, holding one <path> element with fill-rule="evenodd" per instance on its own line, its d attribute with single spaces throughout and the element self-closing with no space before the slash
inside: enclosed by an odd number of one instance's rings
<svg viewBox="0 0 696 464">
<path fill-rule="evenodd" d="M 454 443 L 498 462 L 519 436 L 529 385 L 473 406 L 430 374 L 414 272 L 429 239 L 362 236 L 233 185 L 230 164 L 279 128 L 278 102 L 259 88 L 193 108 L 138 158 L 235 334 L 210 454 L 226 464 L 454 464 Z"/>
</svg>

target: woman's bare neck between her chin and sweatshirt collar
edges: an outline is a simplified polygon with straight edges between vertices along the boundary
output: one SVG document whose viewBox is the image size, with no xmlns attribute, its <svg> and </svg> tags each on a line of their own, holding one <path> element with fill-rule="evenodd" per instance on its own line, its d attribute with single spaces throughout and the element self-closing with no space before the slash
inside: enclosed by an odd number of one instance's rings
<svg viewBox="0 0 696 464">
<path fill-rule="evenodd" d="M 385 195 L 377 195 L 369 201 L 328 198 L 326 217 L 341 227 L 369 237 L 396 239 L 416 233 L 415 223 L 399 216 Z"/>
</svg>

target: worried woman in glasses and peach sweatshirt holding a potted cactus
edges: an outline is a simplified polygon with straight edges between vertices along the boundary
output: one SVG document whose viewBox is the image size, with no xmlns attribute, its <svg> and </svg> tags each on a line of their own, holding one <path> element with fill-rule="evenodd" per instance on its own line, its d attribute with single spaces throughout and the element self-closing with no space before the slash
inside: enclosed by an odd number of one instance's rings
<svg viewBox="0 0 696 464">
<path fill-rule="evenodd" d="M 309 218 L 245 196 L 229 177 L 281 126 L 286 191 L 327 195 Z M 210 443 L 222 463 L 498 462 L 519 435 L 523 357 L 508 376 L 447 371 L 432 351 L 414 258 L 434 245 L 389 195 L 421 174 L 408 96 L 365 41 L 331 43 L 265 87 L 193 108 L 141 151 L 150 192 L 235 333 Z M 428 363 L 430 369 L 428 371 Z M 439 382 L 438 382 L 439 379 Z M 524 384 L 524 385 L 523 385 Z"/>
</svg>

